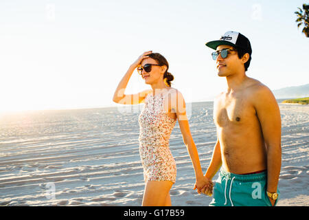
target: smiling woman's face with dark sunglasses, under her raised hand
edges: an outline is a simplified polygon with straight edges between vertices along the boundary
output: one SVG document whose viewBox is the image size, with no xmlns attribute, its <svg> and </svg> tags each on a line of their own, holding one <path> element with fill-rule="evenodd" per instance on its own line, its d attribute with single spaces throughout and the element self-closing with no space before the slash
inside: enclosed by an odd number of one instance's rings
<svg viewBox="0 0 309 220">
<path fill-rule="evenodd" d="M 141 67 L 144 67 L 146 64 L 158 64 L 156 60 L 152 58 L 146 58 L 141 61 Z M 163 67 L 157 65 L 151 65 L 151 71 L 146 72 L 145 69 L 141 72 L 141 77 L 145 80 L 146 84 L 157 83 L 159 80 L 163 80 Z"/>
</svg>

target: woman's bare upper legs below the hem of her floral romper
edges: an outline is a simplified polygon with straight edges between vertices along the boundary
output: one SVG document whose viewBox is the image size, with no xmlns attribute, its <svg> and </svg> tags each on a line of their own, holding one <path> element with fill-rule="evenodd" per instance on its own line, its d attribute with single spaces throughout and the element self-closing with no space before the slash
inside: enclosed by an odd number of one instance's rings
<svg viewBox="0 0 309 220">
<path fill-rule="evenodd" d="M 172 185 L 171 181 L 147 181 L 141 206 L 165 206 L 167 201 L 170 204 Z"/>
</svg>

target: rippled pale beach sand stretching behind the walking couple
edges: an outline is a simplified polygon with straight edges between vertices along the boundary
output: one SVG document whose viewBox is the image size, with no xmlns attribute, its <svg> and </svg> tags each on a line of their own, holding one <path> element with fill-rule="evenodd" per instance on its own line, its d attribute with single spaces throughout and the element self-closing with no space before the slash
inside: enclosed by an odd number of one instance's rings
<svg viewBox="0 0 309 220">
<path fill-rule="evenodd" d="M 216 142 L 212 104 L 187 105 L 192 109 L 190 128 L 203 172 Z M 309 106 L 279 107 L 278 206 L 308 206 Z M 0 206 L 141 206 L 140 108 L 0 115 Z M 208 206 L 212 198 L 193 190 L 194 169 L 178 123 L 170 148 L 177 166 L 176 183 L 170 190 L 172 205 Z"/>
</svg>

